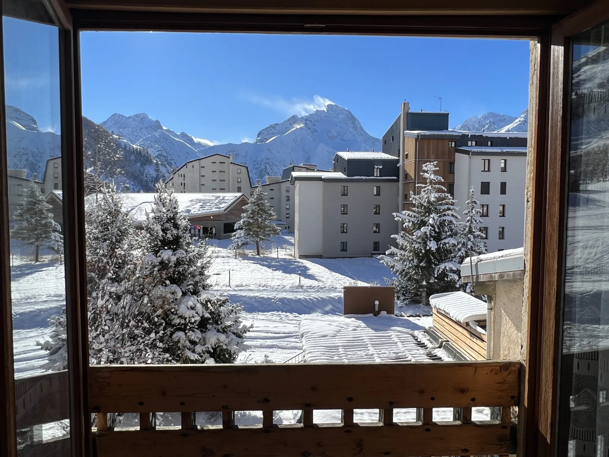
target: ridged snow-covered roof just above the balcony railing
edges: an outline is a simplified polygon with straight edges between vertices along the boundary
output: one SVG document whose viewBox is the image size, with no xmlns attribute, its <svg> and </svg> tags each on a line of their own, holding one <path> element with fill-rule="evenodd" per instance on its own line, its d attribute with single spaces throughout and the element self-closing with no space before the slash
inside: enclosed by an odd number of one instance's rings
<svg viewBox="0 0 609 457">
<path fill-rule="evenodd" d="M 309 314 L 298 325 L 308 363 L 370 363 L 430 361 L 432 352 L 424 326 L 429 317 L 396 317 L 384 311 L 372 314 Z M 419 344 L 417 344 L 419 343 Z"/>
</svg>

